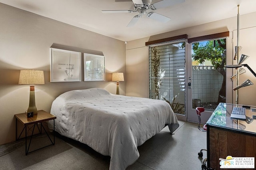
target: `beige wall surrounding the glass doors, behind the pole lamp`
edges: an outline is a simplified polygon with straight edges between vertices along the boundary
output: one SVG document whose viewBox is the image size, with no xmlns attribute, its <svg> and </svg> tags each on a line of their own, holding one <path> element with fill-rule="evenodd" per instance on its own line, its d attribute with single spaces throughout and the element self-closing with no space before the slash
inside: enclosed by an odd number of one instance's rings
<svg viewBox="0 0 256 170">
<path fill-rule="evenodd" d="M 256 12 L 242 15 L 240 16 L 240 45 L 243 46 L 241 52 L 243 54 L 249 55 L 250 58 L 245 63 L 250 63 L 250 67 L 256 71 L 256 51 L 252 50 L 256 46 Z M 140 97 L 148 97 L 148 47 L 145 46 L 145 42 L 158 40 L 162 38 L 168 38 L 173 36 L 178 36 L 182 34 L 188 34 L 188 38 L 194 38 L 198 36 L 205 36 L 209 34 L 215 34 L 220 32 L 230 32 L 230 37 L 227 39 L 227 64 L 232 64 L 233 62 L 233 49 L 236 46 L 236 39 L 233 44 L 233 35 L 236 37 L 237 30 L 237 18 L 228 18 L 225 20 L 220 20 L 216 22 L 211 22 L 208 24 L 203 24 L 199 26 L 194 26 L 190 28 L 185 28 L 181 30 L 176 30 L 172 32 L 166 32 L 164 34 L 159 34 L 155 36 L 151 36 L 148 38 L 143 38 L 140 40 L 135 40 L 128 42 L 126 45 L 126 95 L 134 95 L 136 92 L 136 96 Z M 234 34 L 233 34 L 234 32 Z M 244 36 L 244 38 L 243 38 Z M 246 48 L 244 48 L 246 47 Z M 249 50 L 249 49 L 251 50 Z M 189 57 L 189 56 L 188 56 Z M 140 62 L 145 61 L 145 62 Z M 147 61 L 147 65 L 146 64 Z M 234 61 L 236 62 L 236 61 Z M 234 63 L 235 64 L 235 63 Z M 234 98 L 232 98 L 232 81 L 229 79 L 233 75 L 232 69 L 227 70 L 227 101 L 232 103 Z M 248 71 L 240 77 L 250 77 L 252 82 L 256 84 L 256 77 Z M 141 83 L 140 80 L 144 81 Z M 241 82 L 242 83 L 242 82 Z M 240 83 L 240 84 L 241 84 Z M 240 104 L 245 105 L 256 105 L 256 85 L 245 87 L 241 89 L 240 93 Z M 244 95 L 246 94 L 246 95 Z"/>
</svg>

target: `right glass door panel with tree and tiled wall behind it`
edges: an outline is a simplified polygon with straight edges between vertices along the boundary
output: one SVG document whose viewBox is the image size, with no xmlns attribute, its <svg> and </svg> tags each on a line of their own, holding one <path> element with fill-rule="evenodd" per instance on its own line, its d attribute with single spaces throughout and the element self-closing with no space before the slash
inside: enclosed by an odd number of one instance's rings
<svg viewBox="0 0 256 170">
<path fill-rule="evenodd" d="M 188 44 L 188 121 L 198 122 L 196 107 L 204 107 L 206 123 L 218 103 L 226 103 L 226 39 Z"/>
</svg>

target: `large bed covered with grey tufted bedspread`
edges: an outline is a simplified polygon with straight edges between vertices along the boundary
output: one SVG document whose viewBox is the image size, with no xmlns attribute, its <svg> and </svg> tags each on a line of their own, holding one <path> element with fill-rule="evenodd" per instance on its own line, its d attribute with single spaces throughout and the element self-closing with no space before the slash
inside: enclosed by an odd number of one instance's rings
<svg viewBox="0 0 256 170">
<path fill-rule="evenodd" d="M 124 170 L 139 158 L 137 146 L 168 125 L 179 127 L 165 101 L 113 95 L 100 88 L 73 90 L 58 96 L 51 114 L 62 136 L 110 156 L 110 170 Z M 49 128 L 53 124 L 49 122 Z"/>
</svg>

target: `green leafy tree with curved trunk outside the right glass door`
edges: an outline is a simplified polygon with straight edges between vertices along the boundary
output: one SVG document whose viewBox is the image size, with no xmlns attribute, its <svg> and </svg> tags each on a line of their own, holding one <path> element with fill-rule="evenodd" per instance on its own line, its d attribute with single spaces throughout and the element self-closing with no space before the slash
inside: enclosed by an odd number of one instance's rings
<svg viewBox="0 0 256 170">
<path fill-rule="evenodd" d="M 226 39 L 208 41 L 205 45 L 193 43 L 192 49 L 194 60 L 201 64 L 208 60 L 222 74 L 223 81 L 219 91 L 218 103 L 226 102 Z"/>
</svg>

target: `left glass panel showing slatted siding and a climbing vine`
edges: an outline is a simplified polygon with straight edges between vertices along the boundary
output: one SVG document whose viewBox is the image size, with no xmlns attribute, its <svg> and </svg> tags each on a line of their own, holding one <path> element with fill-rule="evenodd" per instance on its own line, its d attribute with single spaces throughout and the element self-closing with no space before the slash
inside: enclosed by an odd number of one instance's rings
<svg viewBox="0 0 256 170">
<path fill-rule="evenodd" d="M 185 40 L 149 47 L 150 97 L 186 115 Z"/>
</svg>

